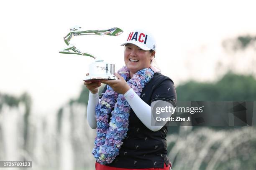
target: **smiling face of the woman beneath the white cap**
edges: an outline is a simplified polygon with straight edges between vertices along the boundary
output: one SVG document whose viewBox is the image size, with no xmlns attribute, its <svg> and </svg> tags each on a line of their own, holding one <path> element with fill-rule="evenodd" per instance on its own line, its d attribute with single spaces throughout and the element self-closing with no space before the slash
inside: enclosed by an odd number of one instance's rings
<svg viewBox="0 0 256 170">
<path fill-rule="evenodd" d="M 124 50 L 124 61 L 125 65 L 130 70 L 131 77 L 138 70 L 149 68 L 154 55 L 155 52 L 150 52 L 150 50 L 146 51 L 134 44 L 126 44 Z"/>
</svg>

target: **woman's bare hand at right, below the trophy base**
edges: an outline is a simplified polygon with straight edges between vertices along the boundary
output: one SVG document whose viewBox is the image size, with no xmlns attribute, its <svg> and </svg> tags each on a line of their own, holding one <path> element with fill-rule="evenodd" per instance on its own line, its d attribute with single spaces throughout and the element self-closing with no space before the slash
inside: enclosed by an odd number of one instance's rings
<svg viewBox="0 0 256 170">
<path fill-rule="evenodd" d="M 124 80 L 122 76 L 120 76 L 118 73 L 115 73 L 115 76 L 117 76 L 118 80 L 101 80 L 102 83 L 109 85 L 113 88 L 113 90 L 120 94 L 125 94 L 128 90 L 131 89 L 131 87 L 127 84 L 127 82 Z"/>
</svg>

